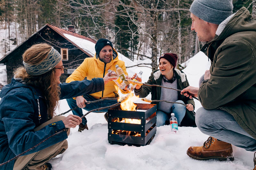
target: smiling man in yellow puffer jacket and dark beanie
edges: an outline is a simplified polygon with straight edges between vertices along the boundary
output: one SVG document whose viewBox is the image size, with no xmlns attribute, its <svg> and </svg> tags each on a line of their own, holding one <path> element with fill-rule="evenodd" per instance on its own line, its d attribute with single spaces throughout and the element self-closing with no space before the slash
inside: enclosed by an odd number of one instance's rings
<svg viewBox="0 0 256 170">
<path fill-rule="evenodd" d="M 84 80 L 87 77 L 87 80 L 92 80 L 92 78 L 103 78 L 107 73 L 108 69 L 115 70 L 115 65 L 117 64 L 124 70 L 124 74 L 128 75 L 126 72 L 126 67 L 124 62 L 118 59 L 118 54 L 113 48 L 112 42 L 107 39 L 99 39 L 95 44 L 96 54 L 94 57 L 88 57 L 84 59 L 84 62 L 77 67 L 77 69 L 67 78 L 66 83 L 70 83 L 76 80 Z M 115 84 L 114 81 L 109 82 L 105 85 L 104 91 L 96 92 L 92 94 L 84 94 L 83 96 L 77 96 L 75 99 L 67 99 L 68 106 L 74 108 L 78 106 L 79 108 L 73 110 L 74 115 L 82 116 L 82 109 L 90 111 L 99 107 L 106 107 L 117 103 L 117 100 L 103 100 L 101 102 L 96 102 L 92 104 L 85 104 L 86 101 L 94 101 L 101 98 L 117 98 L 119 87 Z M 124 89 L 120 89 L 122 93 L 129 92 Z M 107 112 L 108 110 L 100 110 L 99 112 Z M 79 125 L 78 131 L 82 132 L 84 129 L 88 129 L 87 120 L 84 117 L 82 123 Z"/>
</svg>

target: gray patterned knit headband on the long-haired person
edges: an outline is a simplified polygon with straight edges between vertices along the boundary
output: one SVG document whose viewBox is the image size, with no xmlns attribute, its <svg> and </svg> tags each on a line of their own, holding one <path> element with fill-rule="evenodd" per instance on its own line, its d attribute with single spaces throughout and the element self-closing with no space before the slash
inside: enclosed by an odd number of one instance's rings
<svg viewBox="0 0 256 170">
<path fill-rule="evenodd" d="M 38 76 L 52 70 L 58 63 L 60 63 L 60 53 L 52 47 L 46 59 L 41 63 L 32 65 L 23 61 L 26 71 L 29 75 Z"/>
</svg>

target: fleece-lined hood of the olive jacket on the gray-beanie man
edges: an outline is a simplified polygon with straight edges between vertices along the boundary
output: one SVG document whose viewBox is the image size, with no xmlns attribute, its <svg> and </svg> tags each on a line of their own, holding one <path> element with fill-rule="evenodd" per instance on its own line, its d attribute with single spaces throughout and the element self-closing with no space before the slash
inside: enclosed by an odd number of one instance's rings
<svg viewBox="0 0 256 170">
<path fill-rule="evenodd" d="M 256 23 L 251 22 L 252 19 L 253 17 L 252 15 L 250 15 L 250 12 L 245 7 L 242 7 L 236 13 L 232 14 L 226 20 L 220 23 L 216 33 L 218 34 L 218 32 L 221 30 L 221 27 L 224 28 L 221 31 L 220 35 L 216 35 L 212 41 L 226 39 L 230 35 L 238 32 L 256 31 Z M 209 43 L 211 43 L 212 41 L 210 41 Z"/>
</svg>

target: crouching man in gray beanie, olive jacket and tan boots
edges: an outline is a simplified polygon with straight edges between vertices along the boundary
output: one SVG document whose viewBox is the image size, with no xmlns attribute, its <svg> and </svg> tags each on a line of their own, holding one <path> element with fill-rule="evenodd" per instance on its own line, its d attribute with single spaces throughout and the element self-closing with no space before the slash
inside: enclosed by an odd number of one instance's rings
<svg viewBox="0 0 256 170">
<path fill-rule="evenodd" d="M 188 148 L 194 159 L 234 160 L 231 144 L 256 151 L 256 20 L 244 7 L 232 9 L 231 0 L 195 0 L 190 7 L 191 30 L 207 42 L 201 50 L 212 61 L 199 89 L 181 91 L 198 97 L 196 125 L 212 136 Z"/>
</svg>

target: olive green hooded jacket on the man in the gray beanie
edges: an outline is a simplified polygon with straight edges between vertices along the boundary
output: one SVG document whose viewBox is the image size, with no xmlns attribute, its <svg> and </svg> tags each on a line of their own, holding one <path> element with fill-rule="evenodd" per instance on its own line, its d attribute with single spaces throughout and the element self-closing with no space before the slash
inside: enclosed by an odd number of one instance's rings
<svg viewBox="0 0 256 170">
<path fill-rule="evenodd" d="M 202 106 L 227 111 L 256 139 L 256 19 L 241 8 L 203 52 L 212 65 L 198 92 Z"/>
</svg>

